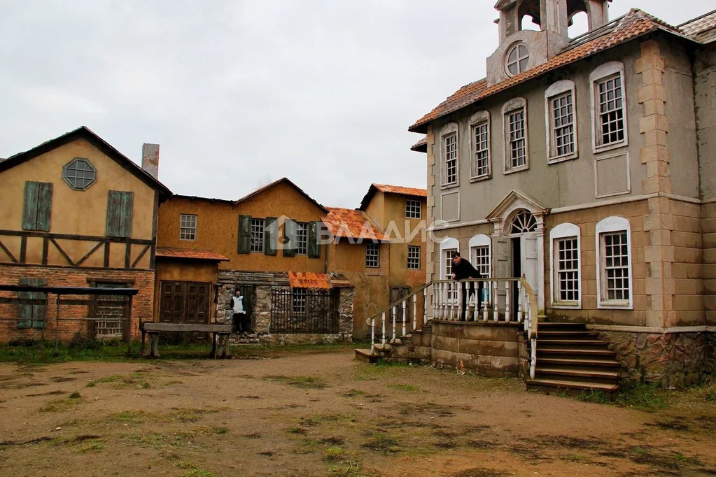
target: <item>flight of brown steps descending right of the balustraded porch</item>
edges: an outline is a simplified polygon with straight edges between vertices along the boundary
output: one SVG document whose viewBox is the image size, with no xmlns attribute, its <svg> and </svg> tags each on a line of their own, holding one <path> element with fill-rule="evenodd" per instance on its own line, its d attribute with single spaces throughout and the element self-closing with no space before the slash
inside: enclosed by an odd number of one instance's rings
<svg viewBox="0 0 716 477">
<path fill-rule="evenodd" d="M 614 399 L 619 393 L 619 363 L 596 332 L 583 323 L 539 323 L 537 366 L 527 389 L 581 393 L 598 390 Z"/>
</svg>

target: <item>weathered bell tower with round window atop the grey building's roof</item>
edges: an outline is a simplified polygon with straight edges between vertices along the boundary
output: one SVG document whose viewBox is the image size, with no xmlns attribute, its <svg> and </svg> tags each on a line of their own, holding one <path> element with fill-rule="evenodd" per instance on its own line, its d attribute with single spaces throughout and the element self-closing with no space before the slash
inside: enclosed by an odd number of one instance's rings
<svg viewBox="0 0 716 477">
<path fill-rule="evenodd" d="M 499 0 L 500 46 L 488 58 L 488 84 L 496 84 L 547 62 L 569 43 L 567 30 L 575 14 L 584 11 L 589 31 L 609 22 L 611 0 Z M 539 29 L 523 30 L 531 17 Z"/>
</svg>

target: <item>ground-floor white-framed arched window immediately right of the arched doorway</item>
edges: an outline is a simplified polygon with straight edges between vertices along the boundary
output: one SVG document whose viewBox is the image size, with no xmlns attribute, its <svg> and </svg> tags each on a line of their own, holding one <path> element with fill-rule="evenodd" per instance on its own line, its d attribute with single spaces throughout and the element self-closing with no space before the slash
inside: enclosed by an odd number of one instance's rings
<svg viewBox="0 0 716 477">
<path fill-rule="evenodd" d="M 559 224 L 549 233 L 552 263 L 552 305 L 581 308 L 581 230 L 570 223 Z"/>
</svg>

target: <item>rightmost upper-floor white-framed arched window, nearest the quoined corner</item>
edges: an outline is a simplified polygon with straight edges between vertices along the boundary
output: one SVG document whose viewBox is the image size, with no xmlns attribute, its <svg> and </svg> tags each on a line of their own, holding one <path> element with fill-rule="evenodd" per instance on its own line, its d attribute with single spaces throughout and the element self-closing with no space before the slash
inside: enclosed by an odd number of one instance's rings
<svg viewBox="0 0 716 477">
<path fill-rule="evenodd" d="M 594 151 L 627 145 L 624 64 L 609 62 L 591 73 Z"/>
</svg>

